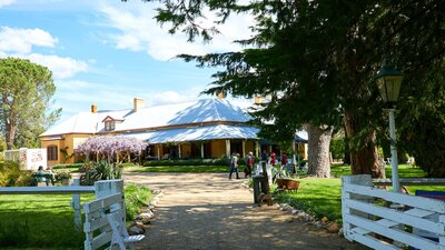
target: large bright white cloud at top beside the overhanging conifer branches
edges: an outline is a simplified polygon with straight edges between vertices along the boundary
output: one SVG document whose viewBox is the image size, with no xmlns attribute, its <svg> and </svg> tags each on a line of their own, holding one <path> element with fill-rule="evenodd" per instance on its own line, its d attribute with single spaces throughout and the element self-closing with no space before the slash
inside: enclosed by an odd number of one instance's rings
<svg viewBox="0 0 445 250">
<path fill-rule="evenodd" d="M 209 43 L 196 41 L 187 42 L 187 37 L 178 32 L 171 36 L 168 28 L 160 27 L 154 19 L 154 3 L 126 3 L 119 7 L 103 4 L 99 11 L 106 18 L 106 26 L 117 30 L 108 39 L 118 49 L 131 51 L 146 51 L 157 60 L 169 60 L 180 53 L 204 54 L 208 52 L 238 51 L 243 48 L 234 43 L 234 40 L 249 38 L 249 24 L 251 17 L 236 16 L 220 27 L 221 34 L 216 36 Z M 211 18 L 201 21 L 202 26 L 209 27 Z M 198 39 L 199 40 L 199 39 Z"/>
</svg>

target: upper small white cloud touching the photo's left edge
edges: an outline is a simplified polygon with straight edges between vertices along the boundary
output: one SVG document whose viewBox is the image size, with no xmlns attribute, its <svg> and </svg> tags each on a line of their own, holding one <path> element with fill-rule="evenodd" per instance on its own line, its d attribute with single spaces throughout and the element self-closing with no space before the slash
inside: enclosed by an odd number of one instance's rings
<svg viewBox="0 0 445 250">
<path fill-rule="evenodd" d="M 53 48 L 58 42 L 50 33 L 41 29 L 14 29 L 0 27 L 0 51 L 30 53 L 32 47 Z"/>
</svg>

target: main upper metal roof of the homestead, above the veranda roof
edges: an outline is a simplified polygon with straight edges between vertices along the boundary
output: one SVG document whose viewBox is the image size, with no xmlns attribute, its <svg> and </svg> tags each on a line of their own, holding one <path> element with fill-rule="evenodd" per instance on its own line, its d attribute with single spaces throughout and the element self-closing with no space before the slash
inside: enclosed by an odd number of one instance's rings
<svg viewBox="0 0 445 250">
<path fill-rule="evenodd" d="M 102 121 L 121 118 L 116 132 L 127 132 L 162 127 L 180 127 L 208 122 L 246 122 L 250 117 L 240 107 L 228 100 L 202 99 L 192 102 L 147 107 L 135 112 L 132 109 L 117 111 L 80 112 L 50 128 L 40 137 L 67 133 L 106 132 Z"/>
</svg>

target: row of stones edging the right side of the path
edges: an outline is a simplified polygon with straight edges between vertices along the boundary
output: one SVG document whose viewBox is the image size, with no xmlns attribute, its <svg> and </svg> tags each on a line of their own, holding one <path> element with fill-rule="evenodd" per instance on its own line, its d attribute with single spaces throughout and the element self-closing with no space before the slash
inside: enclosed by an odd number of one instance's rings
<svg viewBox="0 0 445 250">
<path fill-rule="evenodd" d="M 254 193 L 254 189 L 249 187 L 248 182 L 244 182 L 241 187 L 249 189 L 249 191 Z M 324 217 L 322 220 L 317 220 L 316 217 L 307 213 L 304 210 L 295 209 L 288 203 L 278 203 L 276 200 L 274 200 L 274 206 L 280 211 L 289 212 L 294 216 L 294 218 L 289 222 L 293 222 L 295 220 L 299 222 L 306 222 L 308 224 L 315 226 L 319 230 L 327 230 L 328 232 L 337 233 L 339 237 L 343 237 L 343 228 L 335 221 L 328 221 L 326 217 Z"/>
</svg>

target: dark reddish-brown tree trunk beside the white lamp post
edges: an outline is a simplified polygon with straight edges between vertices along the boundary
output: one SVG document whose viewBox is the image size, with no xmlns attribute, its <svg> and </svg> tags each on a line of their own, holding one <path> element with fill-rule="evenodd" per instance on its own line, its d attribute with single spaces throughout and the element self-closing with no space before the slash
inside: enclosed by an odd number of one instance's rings
<svg viewBox="0 0 445 250">
<path fill-rule="evenodd" d="M 373 178 L 385 178 L 385 168 L 376 147 L 375 130 L 367 131 L 366 138 L 354 144 L 363 128 L 357 113 L 345 112 L 346 137 L 349 139 L 349 153 L 353 174 L 370 174 Z"/>
</svg>

